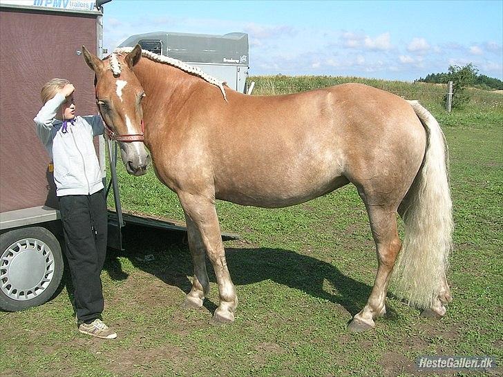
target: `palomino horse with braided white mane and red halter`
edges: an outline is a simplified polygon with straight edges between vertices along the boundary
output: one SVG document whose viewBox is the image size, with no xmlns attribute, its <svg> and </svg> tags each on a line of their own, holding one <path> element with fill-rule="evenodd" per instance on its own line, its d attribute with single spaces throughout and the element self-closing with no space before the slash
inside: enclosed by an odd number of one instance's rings
<svg viewBox="0 0 503 377">
<path fill-rule="evenodd" d="M 159 180 L 180 199 L 194 266 L 186 307 L 202 307 L 209 292 L 205 252 L 220 296 L 213 322 L 233 321 L 238 306 L 216 199 L 276 208 L 352 183 L 368 211 L 379 267 L 350 329 L 372 328 L 385 313 L 400 250 L 397 289 L 424 313 L 444 315 L 453 224 L 446 144 L 417 101 L 361 84 L 252 97 L 139 45 L 104 60 L 83 50 L 96 75 L 99 111 L 127 170 L 145 172 L 143 142 Z M 397 213 L 406 226 L 403 244 Z"/>
</svg>

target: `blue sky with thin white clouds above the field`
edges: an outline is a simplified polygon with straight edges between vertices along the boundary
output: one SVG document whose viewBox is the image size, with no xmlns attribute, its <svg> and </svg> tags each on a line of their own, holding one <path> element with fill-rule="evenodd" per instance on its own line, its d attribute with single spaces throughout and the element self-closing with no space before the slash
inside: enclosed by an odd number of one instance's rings
<svg viewBox="0 0 503 377">
<path fill-rule="evenodd" d="M 104 5 L 104 47 L 142 32 L 247 32 L 250 75 L 412 81 L 473 63 L 503 79 L 503 1 L 146 1 Z"/>
</svg>

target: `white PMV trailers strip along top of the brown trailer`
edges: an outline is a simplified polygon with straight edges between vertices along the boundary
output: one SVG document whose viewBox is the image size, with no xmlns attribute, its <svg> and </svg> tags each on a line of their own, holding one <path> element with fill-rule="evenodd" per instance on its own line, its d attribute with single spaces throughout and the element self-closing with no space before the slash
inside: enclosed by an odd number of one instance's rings
<svg viewBox="0 0 503 377">
<path fill-rule="evenodd" d="M 102 14 L 95 0 L 0 0 L 0 8 L 48 10 L 52 12 Z"/>
</svg>

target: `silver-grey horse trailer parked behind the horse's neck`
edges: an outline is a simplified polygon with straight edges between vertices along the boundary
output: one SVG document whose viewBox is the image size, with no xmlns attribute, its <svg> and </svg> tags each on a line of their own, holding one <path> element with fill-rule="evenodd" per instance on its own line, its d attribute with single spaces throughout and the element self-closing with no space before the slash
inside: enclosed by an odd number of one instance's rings
<svg viewBox="0 0 503 377">
<path fill-rule="evenodd" d="M 225 35 L 149 32 L 132 35 L 119 47 L 133 47 L 184 61 L 207 74 L 227 82 L 229 88 L 247 93 L 248 35 L 231 32 Z"/>
</svg>

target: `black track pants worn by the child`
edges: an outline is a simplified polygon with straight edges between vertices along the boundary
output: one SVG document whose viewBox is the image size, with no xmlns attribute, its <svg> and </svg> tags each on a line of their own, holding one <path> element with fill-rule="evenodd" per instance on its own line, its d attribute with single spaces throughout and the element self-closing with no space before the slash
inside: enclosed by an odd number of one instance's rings
<svg viewBox="0 0 503 377">
<path fill-rule="evenodd" d="M 106 257 L 107 212 L 103 190 L 93 195 L 59 197 L 65 253 L 75 287 L 79 321 L 98 318 L 103 311 L 102 272 Z"/>
</svg>

